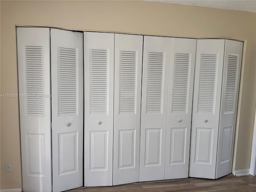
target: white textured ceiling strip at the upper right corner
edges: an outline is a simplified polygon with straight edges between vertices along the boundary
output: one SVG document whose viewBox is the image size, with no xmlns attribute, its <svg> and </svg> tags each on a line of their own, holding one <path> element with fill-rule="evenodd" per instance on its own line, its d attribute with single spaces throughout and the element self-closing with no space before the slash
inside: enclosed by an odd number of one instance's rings
<svg viewBox="0 0 256 192">
<path fill-rule="evenodd" d="M 175 3 L 219 9 L 231 9 L 256 12 L 256 0 L 147 0 L 164 3 Z"/>
</svg>

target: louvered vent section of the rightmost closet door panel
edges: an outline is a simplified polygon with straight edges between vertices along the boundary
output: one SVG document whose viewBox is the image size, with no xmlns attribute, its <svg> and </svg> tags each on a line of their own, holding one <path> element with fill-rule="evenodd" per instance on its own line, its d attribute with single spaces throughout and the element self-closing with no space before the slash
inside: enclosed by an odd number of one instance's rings
<svg viewBox="0 0 256 192">
<path fill-rule="evenodd" d="M 238 55 L 228 55 L 228 70 L 226 79 L 226 92 L 224 113 L 234 112 L 234 102 L 236 94 L 236 72 L 237 72 Z"/>
</svg>

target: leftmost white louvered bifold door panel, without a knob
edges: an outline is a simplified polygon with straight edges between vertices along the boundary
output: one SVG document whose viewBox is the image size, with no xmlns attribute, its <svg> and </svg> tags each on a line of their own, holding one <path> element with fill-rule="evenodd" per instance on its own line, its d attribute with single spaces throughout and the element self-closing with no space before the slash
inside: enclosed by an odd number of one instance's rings
<svg viewBox="0 0 256 192">
<path fill-rule="evenodd" d="M 52 190 L 50 29 L 17 28 L 22 188 Z"/>
</svg>

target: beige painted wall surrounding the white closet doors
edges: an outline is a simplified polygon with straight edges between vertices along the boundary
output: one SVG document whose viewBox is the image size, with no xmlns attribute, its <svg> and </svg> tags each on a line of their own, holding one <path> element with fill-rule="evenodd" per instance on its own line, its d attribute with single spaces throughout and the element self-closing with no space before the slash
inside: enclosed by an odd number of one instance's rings
<svg viewBox="0 0 256 192">
<path fill-rule="evenodd" d="M 256 106 L 256 14 L 144 1 L 0 1 L 1 94 L 17 94 L 15 25 L 245 40 L 234 167 L 248 169 Z M 1 189 L 21 188 L 18 98 L 1 98 Z M 13 171 L 4 172 L 12 162 Z"/>
</svg>

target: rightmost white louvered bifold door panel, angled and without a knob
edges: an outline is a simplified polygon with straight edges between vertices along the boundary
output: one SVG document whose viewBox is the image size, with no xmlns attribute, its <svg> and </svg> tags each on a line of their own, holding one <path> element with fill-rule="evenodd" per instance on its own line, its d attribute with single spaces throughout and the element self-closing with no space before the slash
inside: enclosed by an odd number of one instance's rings
<svg viewBox="0 0 256 192">
<path fill-rule="evenodd" d="M 231 173 L 243 43 L 225 40 L 216 178 Z"/>
</svg>

